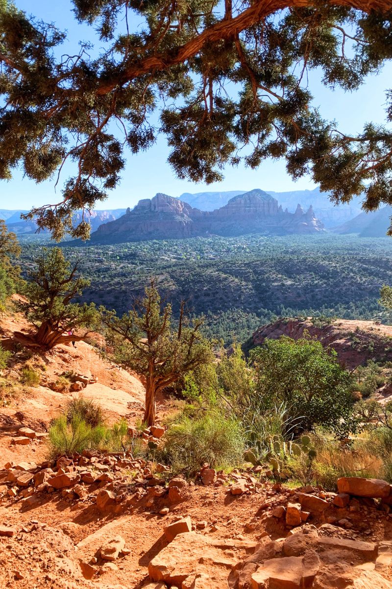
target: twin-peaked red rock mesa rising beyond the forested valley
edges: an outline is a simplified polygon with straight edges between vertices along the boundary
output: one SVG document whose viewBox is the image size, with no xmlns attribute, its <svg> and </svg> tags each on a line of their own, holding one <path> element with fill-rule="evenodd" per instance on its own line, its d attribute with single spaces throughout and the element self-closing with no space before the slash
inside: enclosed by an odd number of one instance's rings
<svg viewBox="0 0 392 589">
<path fill-rule="evenodd" d="M 92 243 L 122 243 L 148 239 L 184 239 L 211 235 L 239 236 L 249 233 L 275 235 L 308 234 L 324 231 L 310 206 L 300 205 L 295 213 L 283 211 L 276 198 L 255 188 L 230 198 L 213 211 L 193 208 L 179 198 L 158 193 L 143 198 L 133 210 L 101 225 L 92 233 Z"/>
</svg>

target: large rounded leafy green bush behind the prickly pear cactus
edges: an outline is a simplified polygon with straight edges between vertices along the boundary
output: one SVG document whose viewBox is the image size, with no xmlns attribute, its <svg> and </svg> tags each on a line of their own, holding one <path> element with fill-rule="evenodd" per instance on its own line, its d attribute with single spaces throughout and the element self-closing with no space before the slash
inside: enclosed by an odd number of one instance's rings
<svg viewBox="0 0 392 589">
<path fill-rule="evenodd" d="M 351 377 L 336 356 L 314 339 L 266 339 L 250 355 L 257 374 L 255 394 L 265 408 L 286 403 L 294 435 L 317 425 L 347 435 L 356 426 Z"/>
</svg>

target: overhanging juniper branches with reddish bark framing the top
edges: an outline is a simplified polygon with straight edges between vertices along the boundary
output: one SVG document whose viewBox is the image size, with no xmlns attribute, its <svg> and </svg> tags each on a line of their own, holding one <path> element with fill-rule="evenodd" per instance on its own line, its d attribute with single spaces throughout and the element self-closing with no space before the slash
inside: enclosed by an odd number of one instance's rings
<svg viewBox="0 0 392 589">
<path fill-rule="evenodd" d="M 307 87 L 317 68 L 326 87 L 356 90 L 391 59 L 392 0 L 73 0 L 97 39 L 69 55 L 39 3 L 28 16 L 15 2 L 0 0 L 0 178 L 22 166 L 40 182 L 74 163 L 59 202 L 27 215 L 55 238 L 118 185 L 125 149 L 159 133 L 179 178 L 211 183 L 226 164 L 285 158 L 337 203 L 363 192 L 365 210 L 392 204 L 392 91 L 386 124 L 349 135 Z"/>
</svg>

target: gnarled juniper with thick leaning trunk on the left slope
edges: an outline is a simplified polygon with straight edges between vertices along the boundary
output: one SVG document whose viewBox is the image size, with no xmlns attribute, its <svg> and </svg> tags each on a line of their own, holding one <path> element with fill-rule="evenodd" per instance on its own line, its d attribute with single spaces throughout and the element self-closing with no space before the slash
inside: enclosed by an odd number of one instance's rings
<svg viewBox="0 0 392 589">
<path fill-rule="evenodd" d="M 62 250 L 55 247 L 44 249 L 37 263 L 38 269 L 29 274 L 24 287 L 27 300 L 18 303 L 19 310 L 36 327 L 34 341 L 51 349 L 59 343 L 83 339 L 89 332 L 82 336 L 66 333 L 79 327 L 92 327 L 98 319 L 94 303 L 73 302 L 89 285 L 88 280 L 78 275 L 79 262 L 71 267 Z"/>
</svg>

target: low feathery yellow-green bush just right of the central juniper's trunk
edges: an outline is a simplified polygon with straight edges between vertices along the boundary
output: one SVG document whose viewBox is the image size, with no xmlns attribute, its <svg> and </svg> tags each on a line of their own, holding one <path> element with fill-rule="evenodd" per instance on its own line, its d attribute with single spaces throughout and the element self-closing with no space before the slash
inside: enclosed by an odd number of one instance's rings
<svg viewBox="0 0 392 589">
<path fill-rule="evenodd" d="M 242 462 L 244 441 L 239 424 L 218 413 L 199 419 L 181 415 L 167 429 L 162 459 L 174 472 L 194 474 L 208 462 L 212 468 L 227 468 Z"/>
</svg>

